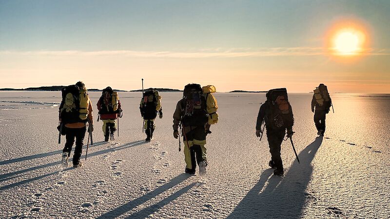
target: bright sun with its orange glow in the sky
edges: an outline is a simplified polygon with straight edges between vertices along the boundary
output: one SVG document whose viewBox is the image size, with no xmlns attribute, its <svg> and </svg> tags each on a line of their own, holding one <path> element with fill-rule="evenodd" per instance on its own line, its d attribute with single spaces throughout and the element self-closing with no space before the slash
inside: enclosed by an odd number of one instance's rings
<svg viewBox="0 0 390 219">
<path fill-rule="evenodd" d="M 328 33 L 327 44 L 331 55 L 364 55 L 368 50 L 368 31 L 359 21 L 337 22 Z"/>
</svg>

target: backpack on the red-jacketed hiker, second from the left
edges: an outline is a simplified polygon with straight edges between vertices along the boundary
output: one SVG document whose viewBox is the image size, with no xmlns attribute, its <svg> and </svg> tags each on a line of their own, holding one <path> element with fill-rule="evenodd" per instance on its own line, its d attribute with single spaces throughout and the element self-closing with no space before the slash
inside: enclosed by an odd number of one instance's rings
<svg viewBox="0 0 390 219">
<path fill-rule="evenodd" d="M 113 91 L 112 88 L 107 87 L 103 89 L 100 102 L 99 114 L 112 114 L 117 113 L 118 110 L 118 93 Z"/>
</svg>

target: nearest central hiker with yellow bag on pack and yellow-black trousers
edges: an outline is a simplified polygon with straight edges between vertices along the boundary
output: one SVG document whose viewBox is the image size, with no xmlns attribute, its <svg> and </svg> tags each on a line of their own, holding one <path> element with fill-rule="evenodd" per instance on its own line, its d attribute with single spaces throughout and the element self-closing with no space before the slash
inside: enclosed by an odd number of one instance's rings
<svg viewBox="0 0 390 219">
<path fill-rule="evenodd" d="M 214 92 L 212 85 L 202 88 L 198 84 L 188 84 L 184 87 L 183 98 L 176 105 L 174 137 L 179 137 L 180 128 L 184 142 L 185 172 L 188 174 L 195 174 L 196 163 L 199 165 L 199 175 L 206 174 L 206 136 L 211 133 L 210 126 L 218 122 Z"/>
</svg>

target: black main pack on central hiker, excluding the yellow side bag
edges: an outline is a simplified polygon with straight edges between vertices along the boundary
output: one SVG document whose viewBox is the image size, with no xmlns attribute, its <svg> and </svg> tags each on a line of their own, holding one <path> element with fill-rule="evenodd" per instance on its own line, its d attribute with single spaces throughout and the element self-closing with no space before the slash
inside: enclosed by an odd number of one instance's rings
<svg viewBox="0 0 390 219">
<path fill-rule="evenodd" d="M 184 87 L 181 104 L 183 126 L 205 126 L 208 121 L 207 104 L 199 84 L 188 84 Z"/>
</svg>

